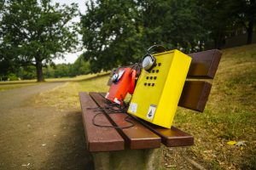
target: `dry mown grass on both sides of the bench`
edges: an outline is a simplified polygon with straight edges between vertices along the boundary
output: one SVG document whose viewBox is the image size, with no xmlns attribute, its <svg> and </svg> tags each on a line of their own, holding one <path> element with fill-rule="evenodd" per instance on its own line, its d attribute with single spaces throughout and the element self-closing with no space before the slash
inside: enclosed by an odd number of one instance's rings
<svg viewBox="0 0 256 170">
<path fill-rule="evenodd" d="M 255 169 L 256 167 L 256 44 L 223 50 L 203 113 L 178 108 L 174 125 L 195 137 L 186 154 L 207 169 Z M 60 110 L 80 111 L 80 91 L 108 91 L 108 76 L 67 82 L 44 94 L 37 104 Z M 242 141 L 245 145 L 229 145 Z M 168 161 L 164 162 L 165 166 Z M 175 169 L 175 166 L 172 168 Z"/>
</svg>

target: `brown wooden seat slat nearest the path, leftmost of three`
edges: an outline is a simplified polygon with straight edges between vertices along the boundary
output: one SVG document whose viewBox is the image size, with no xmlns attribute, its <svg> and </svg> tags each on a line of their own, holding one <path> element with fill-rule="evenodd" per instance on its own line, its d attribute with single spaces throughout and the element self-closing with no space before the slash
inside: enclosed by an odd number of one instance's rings
<svg viewBox="0 0 256 170">
<path fill-rule="evenodd" d="M 89 151 L 110 151 L 125 150 L 125 140 L 119 135 L 114 128 L 96 127 L 92 123 L 95 111 L 88 108 L 96 108 L 97 105 L 86 93 L 79 93 L 82 116 L 84 122 L 84 133 L 87 150 Z M 97 116 L 97 123 L 112 126 L 108 118 L 102 114 Z"/>
</svg>

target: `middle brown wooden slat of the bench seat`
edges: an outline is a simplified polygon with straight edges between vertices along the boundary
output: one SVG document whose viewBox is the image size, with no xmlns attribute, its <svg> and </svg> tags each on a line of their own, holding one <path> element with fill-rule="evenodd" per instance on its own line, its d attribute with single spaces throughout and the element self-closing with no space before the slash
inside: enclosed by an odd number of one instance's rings
<svg viewBox="0 0 256 170">
<path fill-rule="evenodd" d="M 101 94 L 90 93 L 90 96 L 101 107 L 108 104 L 108 101 L 104 99 Z M 125 117 L 128 116 L 125 113 L 109 114 L 107 112 L 107 115 L 115 126 L 124 127 L 130 124 L 129 122 L 124 121 Z M 141 123 L 132 118 L 130 118 L 129 121 L 134 123 L 134 127 L 119 129 L 119 133 L 123 136 L 126 144 L 131 149 L 149 149 L 160 147 L 161 139 L 158 135 L 151 132 L 147 127 L 144 127 Z"/>
</svg>

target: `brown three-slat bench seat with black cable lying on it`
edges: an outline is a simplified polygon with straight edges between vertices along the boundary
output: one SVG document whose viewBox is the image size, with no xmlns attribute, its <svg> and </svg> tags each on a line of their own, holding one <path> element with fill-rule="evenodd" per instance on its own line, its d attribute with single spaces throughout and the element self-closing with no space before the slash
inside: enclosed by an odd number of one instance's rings
<svg viewBox="0 0 256 170">
<path fill-rule="evenodd" d="M 80 103 L 82 106 L 82 115 L 84 121 L 84 132 L 86 138 L 87 149 L 96 151 L 125 150 L 134 149 L 153 149 L 160 148 L 160 143 L 166 146 L 186 146 L 194 144 L 193 136 L 189 133 L 172 127 L 166 129 L 164 127 L 154 126 L 148 122 L 130 116 L 129 121 L 134 126 L 125 129 L 97 127 L 93 125 L 93 117 L 99 111 L 93 111 L 88 108 L 104 107 L 110 102 L 103 98 L 102 93 L 79 93 Z M 126 113 L 109 113 L 102 111 L 102 114 L 96 117 L 96 122 L 102 125 L 125 127 L 129 122 L 125 122 Z"/>
</svg>

